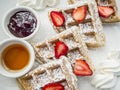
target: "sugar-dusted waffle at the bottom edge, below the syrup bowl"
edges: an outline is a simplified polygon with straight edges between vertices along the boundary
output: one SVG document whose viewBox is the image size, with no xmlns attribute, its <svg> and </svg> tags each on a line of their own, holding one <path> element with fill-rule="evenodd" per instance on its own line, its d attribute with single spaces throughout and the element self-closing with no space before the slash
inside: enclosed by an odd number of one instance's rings
<svg viewBox="0 0 120 90">
<path fill-rule="evenodd" d="M 66 57 L 38 66 L 17 79 L 21 90 L 42 90 L 48 83 L 60 83 L 65 90 L 78 90 L 77 78 Z"/>
</svg>

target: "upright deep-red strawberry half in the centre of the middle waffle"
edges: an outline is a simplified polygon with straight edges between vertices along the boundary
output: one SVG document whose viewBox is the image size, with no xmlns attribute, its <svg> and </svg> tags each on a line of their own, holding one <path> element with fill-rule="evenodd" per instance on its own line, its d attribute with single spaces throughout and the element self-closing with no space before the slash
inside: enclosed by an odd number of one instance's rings
<svg viewBox="0 0 120 90">
<path fill-rule="evenodd" d="M 56 58 L 59 58 L 62 55 L 66 55 L 68 52 L 68 46 L 64 42 L 61 42 L 61 41 L 56 42 L 54 48 L 55 48 L 54 50 L 55 50 Z"/>
</svg>

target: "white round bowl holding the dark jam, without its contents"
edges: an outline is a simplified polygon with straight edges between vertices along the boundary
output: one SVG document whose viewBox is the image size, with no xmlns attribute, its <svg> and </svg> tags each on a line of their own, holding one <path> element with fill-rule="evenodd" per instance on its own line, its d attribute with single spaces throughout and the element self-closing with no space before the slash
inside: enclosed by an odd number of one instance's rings
<svg viewBox="0 0 120 90">
<path fill-rule="evenodd" d="M 32 8 L 30 7 L 26 7 L 26 6 L 18 6 L 18 7 L 14 7 L 12 9 L 10 9 L 6 14 L 5 16 L 3 17 L 3 29 L 4 29 L 4 32 L 9 36 L 9 37 L 12 37 L 12 38 L 20 38 L 20 37 L 16 37 L 14 36 L 8 29 L 8 24 L 9 24 L 9 20 L 11 18 L 11 16 L 13 16 L 16 12 L 18 11 L 21 11 L 21 10 L 27 10 L 27 11 L 30 11 L 31 13 L 33 13 L 33 15 L 36 17 L 37 19 L 37 25 L 36 25 L 36 29 L 34 30 L 34 32 L 32 34 L 30 34 L 29 36 L 26 36 L 26 37 L 23 37 L 21 39 L 24 39 L 24 40 L 29 40 L 31 39 L 36 33 L 37 31 L 39 30 L 39 27 L 40 27 L 40 20 L 39 20 L 39 17 L 38 17 L 38 14 L 36 11 L 34 11 Z"/>
</svg>

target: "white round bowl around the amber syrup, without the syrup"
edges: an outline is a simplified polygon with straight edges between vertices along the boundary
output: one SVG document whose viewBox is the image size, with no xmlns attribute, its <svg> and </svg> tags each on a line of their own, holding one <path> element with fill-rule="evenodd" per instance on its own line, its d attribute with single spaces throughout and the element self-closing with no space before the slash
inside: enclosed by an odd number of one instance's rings
<svg viewBox="0 0 120 90">
<path fill-rule="evenodd" d="M 30 60 L 28 64 L 21 70 L 12 72 L 10 70 L 5 69 L 3 62 L 2 62 L 2 52 L 4 49 L 13 44 L 20 44 L 26 47 L 30 54 Z M 25 40 L 22 39 L 7 39 L 0 43 L 0 74 L 6 77 L 16 78 L 24 75 L 27 73 L 33 66 L 35 60 L 35 53 L 33 47 Z"/>
</svg>

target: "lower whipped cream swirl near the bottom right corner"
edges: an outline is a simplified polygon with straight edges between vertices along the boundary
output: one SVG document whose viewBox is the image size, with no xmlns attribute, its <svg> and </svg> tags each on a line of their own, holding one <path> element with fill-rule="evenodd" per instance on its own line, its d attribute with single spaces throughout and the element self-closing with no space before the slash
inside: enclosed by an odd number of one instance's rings
<svg viewBox="0 0 120 90">
<path fill-rule="evenodd" d="M 92 85 L 100 89 L 110 89 L 116 85 L 117 77 L 113 73 L 95 74 L 92 78 Z"/>
</svg>

